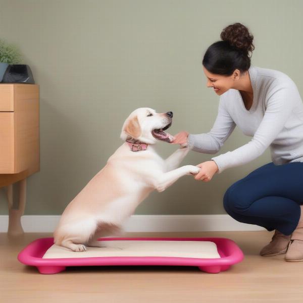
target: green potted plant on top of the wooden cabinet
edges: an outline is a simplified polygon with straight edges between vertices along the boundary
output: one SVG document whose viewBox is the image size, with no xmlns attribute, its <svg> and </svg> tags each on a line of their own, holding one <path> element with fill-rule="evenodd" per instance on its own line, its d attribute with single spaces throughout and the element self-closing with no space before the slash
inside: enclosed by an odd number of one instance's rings
<svg viewBox="0 0 303 303">
<path fill-rule="evenodd" d="M 18 64 L 21 63 L 21 61 L 22 57 L 18 47 L 0 39 L 0 82 L 9 64 Z"/>
</svg>

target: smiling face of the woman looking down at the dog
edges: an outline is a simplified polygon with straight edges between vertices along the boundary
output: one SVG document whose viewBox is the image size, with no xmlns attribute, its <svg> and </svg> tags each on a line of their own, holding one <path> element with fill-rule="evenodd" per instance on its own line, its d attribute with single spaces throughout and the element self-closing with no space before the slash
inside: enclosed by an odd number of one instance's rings
<svg viewBox="0 0 303 303">
<path fill-rule="evenodd" d="M 234 80 L 238 77 L 238 70 L 235 70 L 231 76 L 223 76 L 210 73 L 205 67 L 203 67 L 204 73 L 207 78 L 207 87 L 213 87 L 216 94 L 221 95 L 230 88 L 233 88 Z"/>
</svg>

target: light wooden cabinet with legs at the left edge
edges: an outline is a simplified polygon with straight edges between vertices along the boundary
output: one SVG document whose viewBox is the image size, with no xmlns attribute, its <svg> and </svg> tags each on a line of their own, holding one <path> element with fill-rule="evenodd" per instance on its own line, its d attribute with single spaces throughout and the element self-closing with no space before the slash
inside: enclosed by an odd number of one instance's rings
<svg viewBox="0 0 303 303">
<path fill-rule="evenodd" d="M 0 187 L 8 186 L 9 233 L 21 233 L 21 223 L 14 229 L 12 218 L 23 215 L 26 177 L 39 167 L 39 86 L 0 83 Z M 12 184 L 19 181 L 19 209 L 14 210 Z"/>
</svg>

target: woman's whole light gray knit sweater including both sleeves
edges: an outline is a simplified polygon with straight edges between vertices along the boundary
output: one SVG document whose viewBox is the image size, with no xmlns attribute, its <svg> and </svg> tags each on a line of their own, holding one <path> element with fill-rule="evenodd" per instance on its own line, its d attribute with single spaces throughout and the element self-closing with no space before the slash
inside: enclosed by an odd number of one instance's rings
<svg viewBox="0 0 303 303">
<path fill-rule="evenodd" d="M 270 146 L 272 162 L 303 162 L 303 103 L 295 83 L 284 73 L 250 66 L 254 100 L 245 109 L 240 92 L 229 89 L 220 96 L 218 116 L 211 131 L 189 134 L 192 150 L 216 154 L 237 125 L 252 139 L 243 146 L 211 158 L 219 172 L 248 163 Z"/>
</svg>

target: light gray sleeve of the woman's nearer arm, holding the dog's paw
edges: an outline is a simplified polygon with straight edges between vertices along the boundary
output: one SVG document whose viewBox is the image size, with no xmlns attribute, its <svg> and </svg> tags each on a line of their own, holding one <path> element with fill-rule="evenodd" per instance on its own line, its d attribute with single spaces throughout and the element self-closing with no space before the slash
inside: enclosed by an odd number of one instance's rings
<svg viewBox="0 0 303 303">
<path fill-rule="evenodd" d="M 251 141 L 233 151 L 212 158 L 219 168 L 218 173 L 248 163 L 262 155 L 283 129 L 292 109 L 291 88 L 277 87 L 267 101 L 264 117 Z"/>
</svg>

